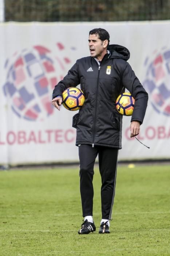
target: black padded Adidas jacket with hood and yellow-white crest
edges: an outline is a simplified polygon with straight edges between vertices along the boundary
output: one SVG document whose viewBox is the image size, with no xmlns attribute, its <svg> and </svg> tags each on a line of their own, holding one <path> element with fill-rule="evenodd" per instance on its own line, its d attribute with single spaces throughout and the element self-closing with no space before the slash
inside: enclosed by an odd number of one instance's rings
<svg viewBox="0 0 170 256">
<path fill-rule="evenodd" d="M 131 121 L 143 123 L 148 94 L 127 63 L 130 52 L 120 45 L 110 45 L 108 50 L 110 53 L 104 56 L 100 66 L 93 57 L 77 60 L 53 91 L 52 98 L 55 98 L 62 96 L 68 87 L 80 84 L 84 92 L 84 105 L 73 117 L 76 146 L 122 148 L 122 115 L 116 110 L 115 102 L 125 89 L 135 99 Z"/>
</svg>

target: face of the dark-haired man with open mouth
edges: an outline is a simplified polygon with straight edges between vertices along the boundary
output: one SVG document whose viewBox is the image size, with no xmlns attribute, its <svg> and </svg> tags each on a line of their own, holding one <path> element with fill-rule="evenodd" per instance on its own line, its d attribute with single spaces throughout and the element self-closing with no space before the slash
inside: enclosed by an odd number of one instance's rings
<svg viewBox="0 0 170 256">
<path fill-rule="evenodd" d="M 103 57 L 103 53 L 106 51 L 106 47 L 104 46 L 104 42 L 99 39 L 98 35 L 93 34 L 89 35 L 88 45 L 90 49 L 91 57 L 96 57 L 97 59 Z"/>
</svg>

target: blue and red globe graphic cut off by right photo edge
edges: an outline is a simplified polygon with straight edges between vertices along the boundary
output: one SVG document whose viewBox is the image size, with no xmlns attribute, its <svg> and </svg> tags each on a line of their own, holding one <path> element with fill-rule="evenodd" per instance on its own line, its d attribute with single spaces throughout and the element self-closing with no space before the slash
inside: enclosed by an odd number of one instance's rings
<svg viewBox="0 0 170 256">
<path fill-rule="evenodd" d="M 170 49 L 156 51 L 150 62 L 146 59 L 145 65 L 143 86 L 149 93 L 149 100 L 158 113 L 170 116 Z"/>
</svg>

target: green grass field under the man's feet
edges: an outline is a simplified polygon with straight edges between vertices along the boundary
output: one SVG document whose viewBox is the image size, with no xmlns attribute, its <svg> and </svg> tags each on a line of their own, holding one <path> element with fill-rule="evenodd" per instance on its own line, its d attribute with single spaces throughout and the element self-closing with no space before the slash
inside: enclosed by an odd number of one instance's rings
<svg viewBox="0 0 170 256">
<path fill-rule="evenodd" d="M 94 175 L 96 232 L 82 223 L 79 169 L 0 172 L 0 256 L 170 255 L 170 166 L 119 166 L 111 234 L 98 234 L 100 176 Z"/>
</svg>

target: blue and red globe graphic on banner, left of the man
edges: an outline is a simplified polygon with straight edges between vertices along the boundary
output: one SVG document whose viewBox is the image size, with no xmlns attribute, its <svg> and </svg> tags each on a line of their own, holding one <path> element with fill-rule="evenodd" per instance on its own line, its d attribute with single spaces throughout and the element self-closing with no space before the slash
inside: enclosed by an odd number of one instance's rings
<svg viewBox="0 0 170 256">
<path fill-rule="evenodd" d="M 60 50 L 64 48 L 60 43 L 57 46 Z M 62 61 L 51 50 L 40 45 L 15 53 L 6 61 L 4 94 L 18 117 L 29 121 L 44 120 L 54 112 L 52 90 L 63 79 L 61 74 L 66 72 L 64 64 L 70 63 L 70 59 L 66 57 Z"/>
</svg>

